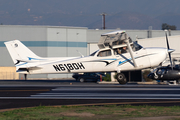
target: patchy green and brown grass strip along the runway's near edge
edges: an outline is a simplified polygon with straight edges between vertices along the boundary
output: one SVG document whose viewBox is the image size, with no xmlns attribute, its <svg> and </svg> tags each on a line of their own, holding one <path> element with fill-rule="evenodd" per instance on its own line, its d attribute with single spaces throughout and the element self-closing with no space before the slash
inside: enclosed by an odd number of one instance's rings
<svg viewBox="0 0 180 120">
<path fill-rule="evenodd" d="M 38 106 L 0 112 L 0 120 L 180 119 L 180 106 Z"/>
</svg>

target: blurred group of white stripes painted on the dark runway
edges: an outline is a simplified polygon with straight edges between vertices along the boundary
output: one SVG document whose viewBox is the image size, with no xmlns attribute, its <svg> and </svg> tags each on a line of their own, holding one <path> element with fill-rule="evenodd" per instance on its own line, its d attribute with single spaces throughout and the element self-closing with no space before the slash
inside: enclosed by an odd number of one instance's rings
<svg viewBox="0 0 180 120">
<path fill-rule="evenodd" d="M 171 91 L 171 93 L 167 93 Z M 175 91 L 176 93 L 174 93 Z M 178 92 L 179 91 L 179 92 Z M 160 92 L 160 93 L 159 93 Z M 32 98 L 59 99 L 180 99 L 180 88 L 67 88 L 58 87 Z"/>
</svg>

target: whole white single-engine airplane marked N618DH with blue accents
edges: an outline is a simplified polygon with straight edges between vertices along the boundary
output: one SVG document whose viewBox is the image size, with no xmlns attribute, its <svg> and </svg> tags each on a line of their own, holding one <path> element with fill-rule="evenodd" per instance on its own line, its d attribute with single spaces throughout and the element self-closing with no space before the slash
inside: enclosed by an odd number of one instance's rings
<svg viewBox="0 0 180 120">
<path fill-rule="evenodd" d="M 23 74 L 117 72 L 120 84 L 127 79 L 122 71 L 134 71 L 161 65 L 172 49 L 143 48 L 125 31 L 102 34 L 99 50 L 89 56 L 43 58 L 34 54 L 19 40 L 5 42 L 16 71 Z"/>
</svg>

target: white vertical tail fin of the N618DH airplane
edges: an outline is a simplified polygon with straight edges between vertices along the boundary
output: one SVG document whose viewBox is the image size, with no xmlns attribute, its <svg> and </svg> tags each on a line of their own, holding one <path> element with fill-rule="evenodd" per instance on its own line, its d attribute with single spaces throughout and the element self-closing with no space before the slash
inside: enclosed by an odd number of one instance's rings
<svg viewBox="0 0 180 120">
<path fill-rule="evenodd" d="M 28 61 L 40 58 L 19 40 L 4 42 L 4 44 L 6 45 L 14 64 L 17 64 L 19 61 Z"/>
</svg>

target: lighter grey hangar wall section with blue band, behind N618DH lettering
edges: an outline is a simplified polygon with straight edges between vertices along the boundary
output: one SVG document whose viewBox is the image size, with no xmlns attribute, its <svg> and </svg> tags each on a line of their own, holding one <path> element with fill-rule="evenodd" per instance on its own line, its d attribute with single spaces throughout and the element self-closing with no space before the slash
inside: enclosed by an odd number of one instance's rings
<svg viewBox="0 0 180 120">
<path fill-rule="evenodd" d="M 47 28 L 48 57 L 77 57 L 77 51 L 86 56 L 86 28 Z M 48 74 L 48 78 L 71 78 L 72 74 Z"/>
</svg>

